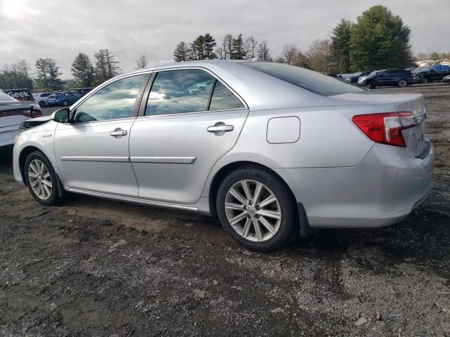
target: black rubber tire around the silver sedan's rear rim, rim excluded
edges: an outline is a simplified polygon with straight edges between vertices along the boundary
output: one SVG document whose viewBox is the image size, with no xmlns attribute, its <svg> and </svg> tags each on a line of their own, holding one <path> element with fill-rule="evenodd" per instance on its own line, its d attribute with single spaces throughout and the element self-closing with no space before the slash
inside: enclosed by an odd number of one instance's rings
<svg viewBox="0 0 450 337">
<path fill-rule="evenodd" d="M 254 242 L 242 237 L 231 227 L 225 212 L 226 194 L 240 180 L 256 180 L 269 187 L 278 199 L 281 209 L 281 223 L 276 234 L 263 242 Z M 287 244 L 296 237 L 299 228 L 297 204 L 292 193 L 283 180 L 267 169 L 258 166 L 243 166 L 229 173 L 221 182 L 216 198 L 217 215 L 224 230 L 241 245 L 254 251 L 272 251 Z"/>
</svg>

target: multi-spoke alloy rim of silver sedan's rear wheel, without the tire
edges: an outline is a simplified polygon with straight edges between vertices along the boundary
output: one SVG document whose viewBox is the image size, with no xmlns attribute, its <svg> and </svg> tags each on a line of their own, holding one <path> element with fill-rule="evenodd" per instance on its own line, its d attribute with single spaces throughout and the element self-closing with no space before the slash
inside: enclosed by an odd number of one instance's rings
<svg viewBox="0 0 450 337">
<path fill-rule="evenodd" d="M 256 180 L 240 180 L 225 197 L 225 214 L 231 227 L 252 242 L 264 242 L 281 225 L 281 207 L 274 192 Z"/>
</svg>

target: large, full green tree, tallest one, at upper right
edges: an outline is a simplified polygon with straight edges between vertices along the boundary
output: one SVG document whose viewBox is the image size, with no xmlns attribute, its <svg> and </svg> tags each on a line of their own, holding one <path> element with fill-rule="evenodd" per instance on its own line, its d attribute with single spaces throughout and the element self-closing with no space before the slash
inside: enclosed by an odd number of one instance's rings
<svg viewBox="0 0 450 337">
<path fill-rule="evenodd" d="M 407 67 L 411 64 L 411 30 L 385 6 L 373 6 L 359 16 L 350 38 L 353 70 Z"/>
</svg>

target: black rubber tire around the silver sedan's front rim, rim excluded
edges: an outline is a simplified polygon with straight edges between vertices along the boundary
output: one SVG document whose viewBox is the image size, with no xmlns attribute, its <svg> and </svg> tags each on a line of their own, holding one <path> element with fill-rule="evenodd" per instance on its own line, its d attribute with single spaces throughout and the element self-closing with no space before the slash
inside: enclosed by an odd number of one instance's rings
<svg viewBox="0 0 450 337">
<path fill-rule="evenodd" d="M 44 165 L 46 166 L 46 169 L 50 173 L 52 186 L 51 186 L 51 194 L 48 199 L 41 199 L 40 197 L 38 197 L 37 194 L 34 192 L 34 190 L 31 187 L 30 177 L 28 176 L 28 171 L 29 171 L 30 163 L 34 159 L 38 159 L 39 161 L 44 163 Z M 63 201 L 64 190 L 60 190 L 60 188 L 62 188 L 61 187 L 62 184 L 59 183 L 58 176 L 56 175 L 56 172 L 53 169 L 53 166 L 51 166 L 49 159 L 45 156 L 44 153 L 42 153 L 41 151 L 34 151 L 28 155 L 27 160 L 25 161 L 24 175 L 25 175 L 25 182 L 27 183 L 28 190 L 30 190 L 32 196 L 34 197 L 34 199 L 36 199 L 37 202 L 39 202 L 39 204 L 42 204 L 44 206 L 53 206 L 56 204 L 60 204 L 60 202 Z"/>
</svg>

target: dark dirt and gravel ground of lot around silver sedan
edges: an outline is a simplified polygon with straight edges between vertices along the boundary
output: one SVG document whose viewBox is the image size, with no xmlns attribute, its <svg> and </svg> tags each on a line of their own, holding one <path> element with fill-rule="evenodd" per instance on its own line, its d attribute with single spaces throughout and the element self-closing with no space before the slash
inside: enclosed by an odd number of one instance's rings
<svg viewBox="0 0 450 337">
<path fill-rule="evenodd" d="M 81 196 L 39 206 L 4 150 L 0 335 L 450 336 L 450 86 L 384 90 L 425 94 L 428 201 L 398 225 L 316 230 L 276 253 L 189 213 Z"/>
</svg>

